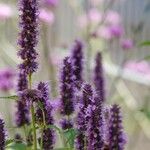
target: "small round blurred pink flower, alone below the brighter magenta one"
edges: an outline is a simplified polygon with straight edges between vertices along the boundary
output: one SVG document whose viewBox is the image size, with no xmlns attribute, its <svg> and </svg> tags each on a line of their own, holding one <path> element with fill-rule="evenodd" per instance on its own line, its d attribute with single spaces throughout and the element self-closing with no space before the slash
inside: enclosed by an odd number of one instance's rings
<svg viewBox="0 0 150 150">
<path fill-rule="evenodd" d="M 125 50 L 132 49 L 134 46 L 133 41 L 131 39 L 125 39 L 121 41 L 121 47 Z"/>
</svg>

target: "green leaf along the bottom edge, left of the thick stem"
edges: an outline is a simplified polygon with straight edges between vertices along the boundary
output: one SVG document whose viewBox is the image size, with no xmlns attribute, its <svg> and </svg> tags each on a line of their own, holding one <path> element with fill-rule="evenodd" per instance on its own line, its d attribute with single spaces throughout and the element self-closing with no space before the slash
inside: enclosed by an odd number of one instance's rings
<svg viewBox="0 0 150 150">
<path fill-rule="evenodd" d="M 26 150 L 27 146 L 24 143 L 11 143 L 7 145 L 6 150 Z"/>
</svg>

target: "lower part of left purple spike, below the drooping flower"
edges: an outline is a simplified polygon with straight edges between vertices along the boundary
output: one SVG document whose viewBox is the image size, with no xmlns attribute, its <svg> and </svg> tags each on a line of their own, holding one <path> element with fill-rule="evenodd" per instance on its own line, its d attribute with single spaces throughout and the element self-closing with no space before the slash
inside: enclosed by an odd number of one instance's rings
<svg viewBox="0 0 150 150">
<path fill-rule="evenodd" d="M 29 109 L 26 105 L 26 102 L 23 101 L 23 99 L 19 99 L 16 104 L 17 112 L 16 112 L 16 125 L 17 127 L 21 127 L 25 124 L 30 123 L 30 117 L 29 117 Z"/>
</svg>

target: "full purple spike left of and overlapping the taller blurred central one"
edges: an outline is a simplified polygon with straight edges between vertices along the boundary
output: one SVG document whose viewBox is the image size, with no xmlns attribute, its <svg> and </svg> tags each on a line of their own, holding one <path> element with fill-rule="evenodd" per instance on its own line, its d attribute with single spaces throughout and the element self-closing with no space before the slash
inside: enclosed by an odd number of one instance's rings
<svg viewBox="0 0 150 150">
<path fill-rule="evenodd" d="M 71 115 L 74 112 L 74 89 L 72 80 L 72 66 L 69 57 L 63 61 L 61 74 L 61 113 Z"/>
</svg>

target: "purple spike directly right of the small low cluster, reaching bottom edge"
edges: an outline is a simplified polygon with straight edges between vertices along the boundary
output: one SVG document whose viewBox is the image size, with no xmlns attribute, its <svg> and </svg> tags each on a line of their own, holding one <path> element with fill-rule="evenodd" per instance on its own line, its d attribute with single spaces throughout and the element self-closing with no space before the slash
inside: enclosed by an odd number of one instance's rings
<svg viewBox="0 0 150 150">
<path fill-rule="evenodd" d="M 84 149 L 88 143 L 87 139 L 87 128 L 89 121 L 88 108 L 93 103 L 93 91 L 92 87 L 89 84 L 83 85 L 82 88 L 82 101 L 79 104 L 79 112 L 77 115 L 77 130 L 78 135 L 76 137 L 76 149 Z"/>
</svg>

